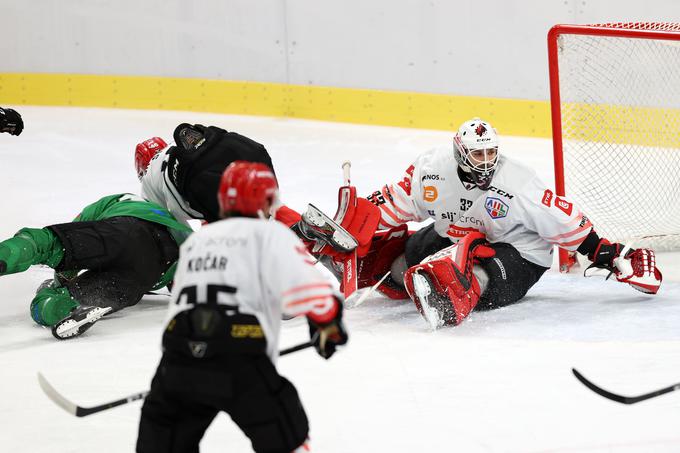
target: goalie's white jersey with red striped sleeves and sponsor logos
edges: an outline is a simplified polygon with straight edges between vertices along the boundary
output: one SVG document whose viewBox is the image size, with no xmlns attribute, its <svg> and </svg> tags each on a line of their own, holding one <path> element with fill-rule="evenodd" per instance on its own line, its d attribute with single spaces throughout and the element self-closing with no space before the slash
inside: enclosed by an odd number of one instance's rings
<svg viewBox="0 0 680 453">
<path fill-rule="evenodd" d="M 491 243 L 508 243 L 522 257 L 552 265 L 553 245 L 574 251 L 593 227 L 570 201 L 557 197 L 536 173 L 500 156 L 489 190 L 461 182 L 451 147 L 422 154 L 402 181 L 385 186 L 381 227 L 409 220 L 435 221 L 435 230 L 452 241 L 481 231 Z"/>
</svg>

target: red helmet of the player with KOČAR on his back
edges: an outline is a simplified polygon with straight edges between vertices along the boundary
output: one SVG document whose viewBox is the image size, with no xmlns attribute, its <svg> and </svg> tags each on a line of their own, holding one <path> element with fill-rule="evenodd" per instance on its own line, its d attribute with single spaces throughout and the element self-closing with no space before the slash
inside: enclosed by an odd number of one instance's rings
<svg viewBox="0 0 680 453">
<path fill-rule="evenodd" d="M 222 215 L 267 217 L 273 215 L 279 185 L 272 169 L 259 162 L 232 162 L 220 181 L 217 202 Z"/>
</svg>

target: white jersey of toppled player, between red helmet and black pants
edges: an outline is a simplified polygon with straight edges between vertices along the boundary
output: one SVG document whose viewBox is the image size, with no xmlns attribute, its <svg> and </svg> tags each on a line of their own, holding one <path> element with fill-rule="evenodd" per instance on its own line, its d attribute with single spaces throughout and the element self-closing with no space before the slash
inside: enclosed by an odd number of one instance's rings
<svg viewBox="0 0 680 453">
<path fill-rule="evenodd" d="M 149 162 L 149 167 L 142 177 L 142 197 L 166 208 L 178 221 L 188 225 L 188 220 L 202 220 L 203 215 L 189 207 L 184 198 L 177 192 L 175 185 L 170 181 L 167 174 L 169 171 L 168 158 L 170 157 L 168 150 L 173 145 L 171 143 L 158 152 Z"/>
</svg>

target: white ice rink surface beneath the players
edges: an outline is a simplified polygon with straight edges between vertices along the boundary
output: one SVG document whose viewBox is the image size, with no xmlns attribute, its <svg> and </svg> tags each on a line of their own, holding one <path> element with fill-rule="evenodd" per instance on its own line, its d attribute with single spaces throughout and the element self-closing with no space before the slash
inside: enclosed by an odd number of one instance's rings
<svg viewBox="0 0 680 453">
<path fill-rule="evenodd" d="M 17 107 L 20 137 L 0 134 L 0 237 L 23 226 L 69 221 L 102 195 L 136 192 L 133 149 L 167 139 L 180 122 L 211 123 L 270 151 L 285 202 L 335 212 L 341 164 L 368 194 L 398 178 L 420 152 L 451 134 L 275 118 L 182 112 Z M 500 131 L 502 133 L 502 131 Z M 547 140 L 502 137 L 502 151 L 552 180 Z M 633 207 L 630 207 L 631 209 Z M 377 295 L 347 311 L 350 343 L 325 362 L 310 350 L 279 361 L 300 391 L 316 452 L 650 452 L 680 451 L 680 392 L 623 406 L 590 392 L 597 384 L 638 394 L 680 381 L 680 266 L 660 256 L 664 286 L 645 296 L 602 278 L 551 271 L 526 299 L 473 313 L 431 332 L 408 301 Z M 78 419 L 42 394 L 42 371 L 67 398 L 94 405 L 144 390 L 160 357 L 166 298 L 140 304 L 57 342 L 28 306 L 46 268 L 0 278 L 0 450 L 133 451 L 140 403 Z M 292 320 L 283 347 L 305 341 Z M 204 452 L 247 452 L 225 416 Z"/>
</svg>

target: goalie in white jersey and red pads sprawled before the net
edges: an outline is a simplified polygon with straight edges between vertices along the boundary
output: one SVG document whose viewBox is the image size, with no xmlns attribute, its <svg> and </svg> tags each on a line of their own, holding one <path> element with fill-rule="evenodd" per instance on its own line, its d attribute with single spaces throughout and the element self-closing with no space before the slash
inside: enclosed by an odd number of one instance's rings
<svg viewBox="0 0 680 453">
<path fill-rule="evenodd" d="M 555 245 L 586 255 L 591 267 L 642 292 L 655 294 L 661 284 L 652 250 L 626 250 L 599 237 L 578 206 L 502 155 L 496 131 L 479 118 L 460 126 L 453 146 L 423 153 L 402 180 L 368 200 L 373 204 L 358 199 L 352 215 L 336 214 L 359 243 L 358 286 L 389 271 L 378 289 L 410 297 L 434 328 L 457 325 L 473 309 L 521 300 L 551 266 Z M 301 235 L 341 273 L 348 254 L 325 245 L 323 232 L 306 233 L 319 230 L 306 217 Z M 427 219 L 434 222 L 407 231 L 406 222 Z"/>
</svg>

